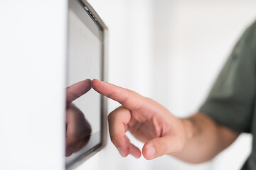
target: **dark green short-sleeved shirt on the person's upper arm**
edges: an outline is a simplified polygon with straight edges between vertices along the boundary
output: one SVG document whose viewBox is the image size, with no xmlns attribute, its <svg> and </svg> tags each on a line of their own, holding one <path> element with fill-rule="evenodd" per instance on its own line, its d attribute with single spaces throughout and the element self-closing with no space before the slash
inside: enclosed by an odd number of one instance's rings
<svg viewBox="0 0 256 170">
<path fill-rule="evenodd" d="M 236 132 L 252 133 L 252 152 L 242 169 L 256 169 L 256 22 L 235 45 L 199 109 Z"/>
</svg>

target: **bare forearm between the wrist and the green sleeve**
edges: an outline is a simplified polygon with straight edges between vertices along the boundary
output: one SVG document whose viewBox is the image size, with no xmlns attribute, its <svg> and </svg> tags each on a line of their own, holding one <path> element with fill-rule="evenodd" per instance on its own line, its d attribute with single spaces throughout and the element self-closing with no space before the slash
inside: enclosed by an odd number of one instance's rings
<svg viewBox="0 0 256 170">
<path fill-rule="evenodd" d="M 213 159 L 228 147 L 238 133 L 218 125 L 203 113 L 196 113 L 181 120 L 186 133 L 186 142 L 174 157 L 190 163 L 202 163 Z"/>
</svg>

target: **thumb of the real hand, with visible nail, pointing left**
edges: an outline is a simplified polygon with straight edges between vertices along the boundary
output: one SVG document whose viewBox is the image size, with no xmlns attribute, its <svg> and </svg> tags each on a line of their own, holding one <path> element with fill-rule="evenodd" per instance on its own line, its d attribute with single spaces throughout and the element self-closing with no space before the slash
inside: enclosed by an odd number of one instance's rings
<svg viewBox="0 0 256 170">
<path fill-rule="evenodd" d="M 151 160 L 164 154 L 176 154 L 184 146 L 184 140 L 179 135 L 157 137 L 145 143 L 142 154 L 145 159 Z"/>
</svg>

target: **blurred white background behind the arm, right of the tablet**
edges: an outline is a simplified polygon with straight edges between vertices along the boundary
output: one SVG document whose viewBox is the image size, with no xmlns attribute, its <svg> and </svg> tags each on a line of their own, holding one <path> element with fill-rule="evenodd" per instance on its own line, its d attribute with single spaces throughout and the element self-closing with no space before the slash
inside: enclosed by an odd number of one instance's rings
<svg viewBox="0 0 256 170">
<path fill-rule="evenodd" d="M 88 1 L 109 28 L 108 81 L 153 98 L 178 117 L 201 106 L 235 42 L 256 19 L 254 0 Z M 109 112 L 119 106 L 108 103 Z M 122 158 L 108 138 L 107 147 L 76 170 L 240 169 L 251 140 L 242 134 L 212 161 L 193 165 L 170 156 Z"/>
</svg>

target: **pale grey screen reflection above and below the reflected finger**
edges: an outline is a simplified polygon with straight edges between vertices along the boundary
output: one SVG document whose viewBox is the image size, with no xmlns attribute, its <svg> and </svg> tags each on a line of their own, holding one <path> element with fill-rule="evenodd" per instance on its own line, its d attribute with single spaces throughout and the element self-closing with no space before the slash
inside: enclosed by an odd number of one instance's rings
<svg viewBox="0 0 256 170">
<path fill-rule="evenodd" d="M 101 79 L 102 42 L 70 11 L 68 86 L 85 79 Z M 100 94 L 88 91 L 74 101 L 92 123 L 92 133 L 100 130 Z M 96 114 L 92 114 L 90 112 Z"/>
</svg>

